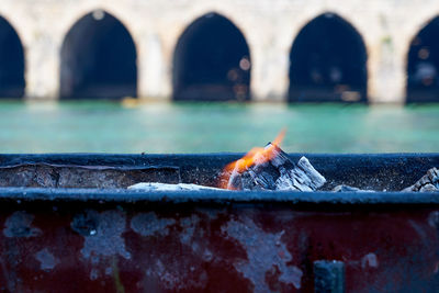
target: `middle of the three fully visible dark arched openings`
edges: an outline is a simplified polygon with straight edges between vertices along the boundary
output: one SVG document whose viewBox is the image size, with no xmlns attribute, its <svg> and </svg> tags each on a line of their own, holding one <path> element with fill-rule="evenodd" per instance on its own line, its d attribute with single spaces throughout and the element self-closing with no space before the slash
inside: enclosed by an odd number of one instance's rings
<svg viewBox="0 0 439 293">
<path fill-rule="evenodd" d="M 249 100 L 250 53 L 239 30 L 209 13 L 181 35 L 173 55 L 173 99 Z"/>
</svg>

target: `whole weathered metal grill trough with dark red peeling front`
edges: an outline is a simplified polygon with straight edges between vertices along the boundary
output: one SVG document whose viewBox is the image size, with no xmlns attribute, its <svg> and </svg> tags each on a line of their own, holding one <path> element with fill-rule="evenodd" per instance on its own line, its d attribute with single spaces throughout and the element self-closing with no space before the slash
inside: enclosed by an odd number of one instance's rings
<svg viewBox="0 0 439 293">
<path fill-rule="evenodd" d="M 297 161 L 302 154 L 291 154 Z M 1 155 L 4 292 L 434 292 L 437 154 L 306 155 L 318 192 L 216 187 L 241 154 Z M 330 192 L 338 184 L 382 192 Z M 67 285 L 68 284 L 68 285 Z"/>
</svg>

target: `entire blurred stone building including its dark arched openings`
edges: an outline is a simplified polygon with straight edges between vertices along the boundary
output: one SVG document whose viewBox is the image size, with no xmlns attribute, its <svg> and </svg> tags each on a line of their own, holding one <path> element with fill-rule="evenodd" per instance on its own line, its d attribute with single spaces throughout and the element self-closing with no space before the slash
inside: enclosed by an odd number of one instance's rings
<svg viewBox="0 0 439 293">
<path fill-rule="evenodd" d="M 432 0 L 3 0 L 0 97 L 439 101 Z"/>
</svg>

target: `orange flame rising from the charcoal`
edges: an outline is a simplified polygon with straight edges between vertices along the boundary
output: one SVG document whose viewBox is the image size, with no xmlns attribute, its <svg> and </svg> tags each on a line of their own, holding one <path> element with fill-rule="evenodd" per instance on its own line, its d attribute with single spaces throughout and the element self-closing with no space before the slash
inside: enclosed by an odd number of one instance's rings
<svg viewBox="0 0 439 293">
<path fill-rule="evenodd" d="M 274 153 L 274 146 L 279 147 L 283 140 L 283 137 L 285 136 L 286 129 L 282 129 L 280 134 L 274 138 L 273 142 L 268 147 L 254 147 L 248 151 L 243 158 L 233 161 L 228 164 L 226 167 L 223 169 L 223 173 L 219 178 L 219 188 L 222 189 L 229 189 L 234 190 L 234 187 L 228 184 L 228 181 L 230 179 L 230 176 L 234 172 L 243 173 L 246 171 L 248 168 L 255 165 L 257 161 L 258 164 L 263 164 L 266 161 L 269 161 L 273 158 L 275 155 Z"/>
</svg>

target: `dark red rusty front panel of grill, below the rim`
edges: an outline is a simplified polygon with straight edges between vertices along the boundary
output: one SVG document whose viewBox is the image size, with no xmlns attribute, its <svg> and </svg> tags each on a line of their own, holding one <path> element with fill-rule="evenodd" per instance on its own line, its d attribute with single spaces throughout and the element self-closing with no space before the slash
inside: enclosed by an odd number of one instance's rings
<svg viewBox="0 0 439 293">
<path fill-rule="evenodd" d="M 435 292 L 439 206 L 3 202 L 3 292 Z"/>
</svg>

